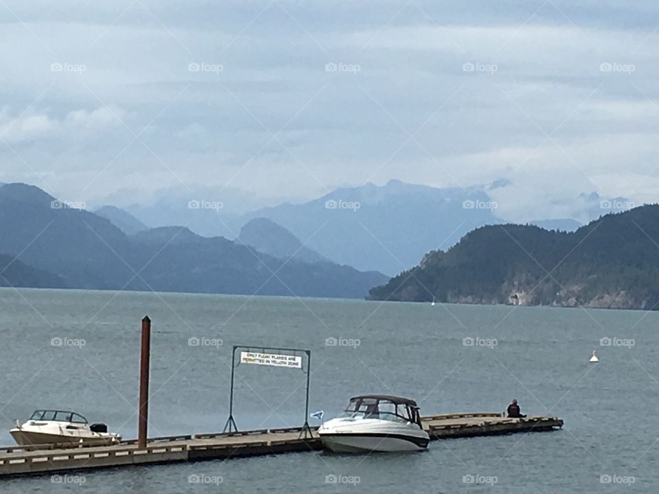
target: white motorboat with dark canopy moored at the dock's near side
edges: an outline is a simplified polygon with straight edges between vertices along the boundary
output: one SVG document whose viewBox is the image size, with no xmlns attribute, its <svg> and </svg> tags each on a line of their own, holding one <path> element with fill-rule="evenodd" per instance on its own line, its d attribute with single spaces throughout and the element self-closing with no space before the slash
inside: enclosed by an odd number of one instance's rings
<svg viewBox="0 0 659 494">
<path fill-rule="evenodd" d="M 336 419 L 318 430 L 323 445 L 337 453 L 419 451 L 430 437 L 414 400 L 386 395 L 353 397 Z"/>
</svg>

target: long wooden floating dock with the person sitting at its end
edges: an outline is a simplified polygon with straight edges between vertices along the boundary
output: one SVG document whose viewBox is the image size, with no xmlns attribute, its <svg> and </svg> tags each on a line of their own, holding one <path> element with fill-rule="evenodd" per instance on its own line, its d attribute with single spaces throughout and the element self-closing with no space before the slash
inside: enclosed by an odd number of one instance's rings
<svg viewBox="0 0 659 494">
<path fill-rule="evenodd" d="M 498 413 L 463 413 L 421 418 L 431 440 L 542 432 L 562 427 L 553 416 L 508 419 Z M 317 427 L 312 427 L 316 431 Z M 194 436 L 150 438 L 145 448 L 137 440 L 119 445 L 81 447 L 3 447 L 0 448 L 0 478 L 10 475 L 37 475 L 70 470 L 220 460 L 243 456 L 319 451 L 323 445 L 317 435 L 301 437 L 301 427 L 263 429 Z"/>
</svg>

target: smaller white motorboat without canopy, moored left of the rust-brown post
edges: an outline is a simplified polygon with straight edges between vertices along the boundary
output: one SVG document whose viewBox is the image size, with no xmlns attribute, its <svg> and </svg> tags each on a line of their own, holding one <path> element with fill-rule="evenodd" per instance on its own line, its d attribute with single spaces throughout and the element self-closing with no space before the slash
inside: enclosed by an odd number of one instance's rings
<svg viewBox="0 0 659 494">
<path fill-rule="evenodd" d="M 80 444 L 110 445 L 122 440 L 103 423 L 89 425 L 84 416 L 64 410 L 36 410 L 23 424 L 16 421 L 10 434 L 21 446 Z"/>
</svg>

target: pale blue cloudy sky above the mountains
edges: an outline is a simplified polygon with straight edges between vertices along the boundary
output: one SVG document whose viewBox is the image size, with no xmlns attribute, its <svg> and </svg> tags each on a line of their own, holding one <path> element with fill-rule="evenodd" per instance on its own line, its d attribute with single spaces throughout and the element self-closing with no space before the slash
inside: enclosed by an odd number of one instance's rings
<svg viewBox="0 0 659 494">
<path fill-rule="evenodd" d="M 654 1 L 0 0 L 0 22 L 0 181 L 65 200 L 391 178 L 508 178 L 514 220 L 659 200 Z"/>
</svg>

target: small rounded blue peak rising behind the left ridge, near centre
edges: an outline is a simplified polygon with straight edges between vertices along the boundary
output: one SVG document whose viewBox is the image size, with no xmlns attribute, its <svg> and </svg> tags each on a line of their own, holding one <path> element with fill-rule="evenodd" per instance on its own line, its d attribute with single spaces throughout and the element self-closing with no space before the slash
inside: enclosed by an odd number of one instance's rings
<svg viewBox="0 0 659 494">
<path fill-rule="evenodd" d="M 298 259 L 304 262 L 327 262 L 326 257 L 303 246 L 300 240 L 284 226 L 264 217 L 247 222 L 241 229 L 238 242 L 251 246 L 259 252 L 279 259 Z"/>
</svg>

